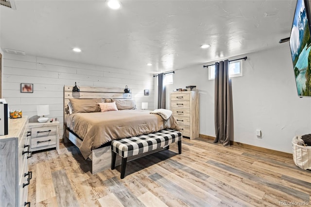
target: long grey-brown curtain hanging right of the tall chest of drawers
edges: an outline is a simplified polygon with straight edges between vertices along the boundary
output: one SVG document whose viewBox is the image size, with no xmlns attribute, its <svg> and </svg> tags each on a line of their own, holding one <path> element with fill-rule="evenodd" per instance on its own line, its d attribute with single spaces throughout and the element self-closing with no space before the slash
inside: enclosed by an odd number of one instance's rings
<svg viewBox="0 0 311 207">
<path fill-rule="evenodd" d="M 229 61 L 215 63 L 215 134 L 214 143 L 230 145 L 233 138 L 232 90 L 229 80 Z"/>
</svg>

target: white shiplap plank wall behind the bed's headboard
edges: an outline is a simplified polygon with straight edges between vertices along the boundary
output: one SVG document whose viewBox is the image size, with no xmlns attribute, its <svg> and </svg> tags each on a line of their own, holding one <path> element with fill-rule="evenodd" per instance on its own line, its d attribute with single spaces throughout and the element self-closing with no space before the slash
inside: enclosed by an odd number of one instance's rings
<svg viewBox="0 0 311 207">
<path fill-rule="evenodd" d="M 63 135 L 63 88 L 64 85 L 121 87 L 127 85 L 137 108 L 141 102 L 148 102 L 148 109 L 154 109 L 153 74 L 127 69 L 114 69 L 36 56 L 5 53 L 3 55 L 3 98 L 10 110 L 21 109 L 23 115 L 36 120 L 36 105 L 49 104 L 50 118 L 60 123 Z M 20 84 L 34 84 L 34 93 L 21 93 Z M 144 89 L 150 95 L 144 95 Z"/>
</svg>

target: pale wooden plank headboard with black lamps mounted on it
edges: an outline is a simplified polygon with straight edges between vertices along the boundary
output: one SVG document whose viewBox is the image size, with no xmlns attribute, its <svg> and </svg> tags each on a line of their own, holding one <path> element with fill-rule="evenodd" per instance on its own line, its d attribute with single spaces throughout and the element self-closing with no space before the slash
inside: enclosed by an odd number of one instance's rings
<svg viewBox="0 0 311 207">
<path fill-rule="evenodd" d="M 65 107 L 69 99 L 131 99 L 132 93 L 124 93 L 124 88 L 80 86 L 80 92 L 72 92 L 73 86 L 64 86 L 64 133 L 67 129 Z"/>
</svg>

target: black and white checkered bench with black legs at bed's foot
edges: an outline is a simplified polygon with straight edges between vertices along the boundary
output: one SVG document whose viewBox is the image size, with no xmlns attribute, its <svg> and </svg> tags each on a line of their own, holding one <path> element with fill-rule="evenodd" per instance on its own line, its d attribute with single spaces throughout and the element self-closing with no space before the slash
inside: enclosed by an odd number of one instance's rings
<svg viewBox="0 0 311 207">
<path fill-rule="evenodd" d="M 121 179 L 124 178 L 127 157 L 147 153 L 159 148 L 169 149 L 172 143 L 178 143 L 178 153 L 181 154 L 181 132 L 164 129 L 159 132 L 140 135 L 131 138 L 122 138 L 111 142 L 111 170 L 115 169 L 116 156 L 122 157 Z"/>
</svg>

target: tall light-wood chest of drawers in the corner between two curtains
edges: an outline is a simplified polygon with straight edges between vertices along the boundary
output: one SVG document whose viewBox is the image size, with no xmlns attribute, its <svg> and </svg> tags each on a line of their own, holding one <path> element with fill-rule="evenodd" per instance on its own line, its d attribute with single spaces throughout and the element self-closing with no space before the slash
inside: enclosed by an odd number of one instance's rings
<svg viewBox="0 0 311 207">
<path fill-rule="evenodd" d="M 171 93 L 171 110 L 184 137 L 199 137 L 199 94 L 197 91 Z"/>
</svg>

